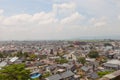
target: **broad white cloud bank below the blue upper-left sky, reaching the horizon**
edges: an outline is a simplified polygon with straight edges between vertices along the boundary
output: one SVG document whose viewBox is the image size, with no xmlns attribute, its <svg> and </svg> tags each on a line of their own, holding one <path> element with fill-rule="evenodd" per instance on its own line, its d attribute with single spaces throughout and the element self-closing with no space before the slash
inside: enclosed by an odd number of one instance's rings
<svg viewBox="0 0 120 80">
<path fill-rule="evenodd" d="M 116 18 L 118 12 L 115 12 L 120 10 L 107 3 L 108 0 L 71 1 L 53 3 L 51 11 L 34 14 L 5 16 L 1 9 L 0 39 L 68 39 L 120 35 L 120 23 Z"/>
</svg>

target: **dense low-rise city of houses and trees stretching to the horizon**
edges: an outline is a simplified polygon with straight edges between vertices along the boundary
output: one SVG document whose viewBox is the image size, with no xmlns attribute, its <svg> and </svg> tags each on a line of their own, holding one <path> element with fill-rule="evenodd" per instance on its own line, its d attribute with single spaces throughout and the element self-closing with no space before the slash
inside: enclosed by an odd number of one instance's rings
<svg viewBox="0 0 120 80">
<path fill-rule="evenodd" d="M 23 70 L 26 72 L 23 73 Z M 119 78 L 119 40 L 0 42 L 0 80 Z"/>
</svg>

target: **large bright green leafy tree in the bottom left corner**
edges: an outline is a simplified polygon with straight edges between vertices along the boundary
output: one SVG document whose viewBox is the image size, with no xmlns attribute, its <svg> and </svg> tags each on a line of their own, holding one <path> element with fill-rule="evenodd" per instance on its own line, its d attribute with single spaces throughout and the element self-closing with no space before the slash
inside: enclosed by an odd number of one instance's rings
<svg viewBox="0 0 120 80">
<path fill-rule="evenodd" d="M 0 70 L 0 80 L 28 80 L 30 71 L 25 69 L 24 64 L 12 64 Z"/>
</svg>

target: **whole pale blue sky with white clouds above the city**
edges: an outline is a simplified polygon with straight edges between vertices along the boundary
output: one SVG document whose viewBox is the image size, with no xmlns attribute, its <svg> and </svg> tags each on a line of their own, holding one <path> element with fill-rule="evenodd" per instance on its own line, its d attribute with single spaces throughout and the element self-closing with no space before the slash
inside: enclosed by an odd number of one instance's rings
<svg viewBox="0 0 120 80">
<path fill-rule="evenodd" d="M 120 0 L 0 0 L 0 40 L 120 39 Z"/>
</svg>

